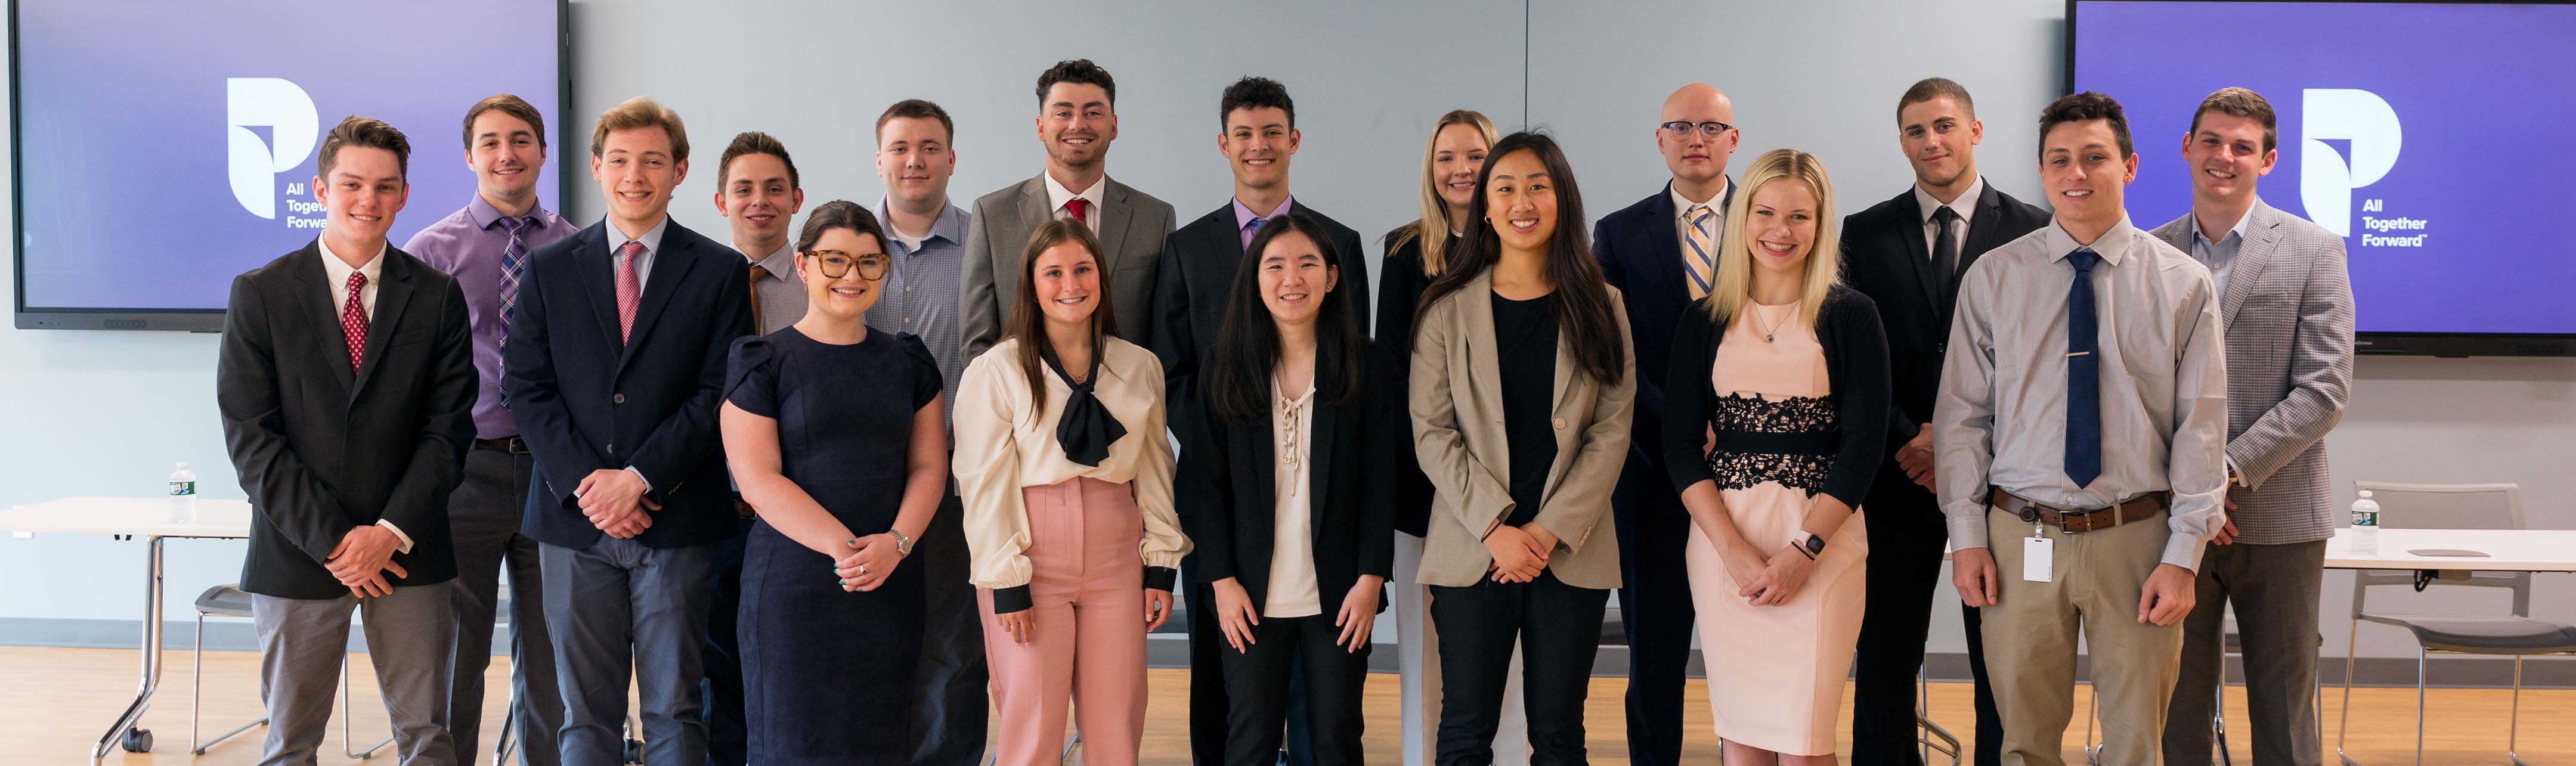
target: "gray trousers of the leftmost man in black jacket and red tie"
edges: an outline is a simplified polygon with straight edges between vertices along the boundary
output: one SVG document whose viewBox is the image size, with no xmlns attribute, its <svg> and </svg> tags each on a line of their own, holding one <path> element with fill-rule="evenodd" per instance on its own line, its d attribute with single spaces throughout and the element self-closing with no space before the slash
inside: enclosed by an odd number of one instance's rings
<svg viewBox="0 0 2576 766">
<path fill-rule="evenodd" d="M 330 722 L 340 663 L 348 660 L 348 614 L 366 624 L 368 663 L 394 722 L 404 766 L 456 763 L 448 740 L 448 663 L 456 653 L 453 585 L 394 588 L 392 596 L 278 598 L 250 596 L 260 634 L 260 702 L 268 743 L 260 766 L 309 766 Z"/>
</svg>

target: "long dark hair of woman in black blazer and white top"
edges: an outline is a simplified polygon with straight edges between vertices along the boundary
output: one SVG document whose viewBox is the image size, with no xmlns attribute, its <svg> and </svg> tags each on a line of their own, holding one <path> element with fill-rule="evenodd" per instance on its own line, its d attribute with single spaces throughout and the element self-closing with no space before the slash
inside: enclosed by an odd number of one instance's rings
<svg viewBox="0 0 2576 766">
<path fill-rule="evenodd" d="M 1273 217 L 1252 245 L 1244 263 L 1234 268 L 1234 289 L 1226 291 L 1226 320 L 1216 330 L 1216 356 L 1208 369 L 1208 405 L 1226 420 L 1260 420 L 1270 415 L 1270 374 L 1280 364 L 1280 328 L 1262 304 L 1262 253 L 1285 235 L 1306 235 L 1324 266 L 1342 271 L 1342 253 L 1332 248 L 1324 224 L 1303 211 Z M 1360 335 L 1360 309 L 1352 307 L 1350 289 L 1334 284 L 1316 315 L 1314 382 L 1316 400 L 1347 405 L 1360 395 L 1360 353 L 1368 338 Z"/>
</svg>

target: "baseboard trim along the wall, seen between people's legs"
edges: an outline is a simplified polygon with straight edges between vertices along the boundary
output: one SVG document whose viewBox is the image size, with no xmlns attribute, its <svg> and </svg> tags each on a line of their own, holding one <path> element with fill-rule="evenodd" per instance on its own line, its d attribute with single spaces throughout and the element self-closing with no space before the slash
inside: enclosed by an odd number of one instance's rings
<svg viewBox="0 0 2576 766">
<path fill-rule="evenodd" d="M 162 624 L 165 650 L 191 650 L 196 624 L 185 619 L 170 619 Z M 142 624 L 134 619 L 44 619 L 44 616 L 5 616 L 0 619 L 0 647 L 100 647 L 100 650 L 131 650 L 142 645 Z M 206 622 L 206 650 L 219 653 L 250 653 L 258 650 L 258 634 L 252 634 L 245 619 L 209 619 Z M 366 653 L 366 634 L 350 629 L 350 653 Z M 510 653 L 510 627 L 497 627 L 492 650 L 500 655 Z M 1396 645 L 1381 642 L 1368 653 L 1370 673 L 1396 673 Z M 1188 668 L 1190 665 L 1190 640 L 1177 632 L 1159 632 L 1146 637 L 1146 665 L 1151 668 Z M 2344 683 L 2344 660 L 2324 658 L 2318 663 L 2318 676 L 2326 686 Z M 1690 653 L 1690 678 L 1708 678 L 1708 660 L 1692 650 Z M 2089 660 L 2076 660 L 2076 676 L 2089 673 Z M 2506 689 L 2514 683 L 2512 658 L 2468 658 L 2468 655 L 2434 655 L 2427 660 L 2427 673 L 2434 678 L 2434 689 Z M 1628 647 L 1607 645 L 1592 658 L 1595 678 L 1620 678 L 1628 676 Z M 1929 653 L 1924 655 L 1924 676 L 1932 681 L 1968 681 L 1968 655 L 1965 653 Z M 2352 676 L 2354 686 L 2414 686 L 2416 663 L 2406 658 L 2360 658 Z M 2228 658 L 2228 683 L 2244 683 L 2244 671 L 2239 658 Z M 2527 658 L 2522 663 L 2524 689 L 2576 689 L 2576 658 Z"/>
</svg>

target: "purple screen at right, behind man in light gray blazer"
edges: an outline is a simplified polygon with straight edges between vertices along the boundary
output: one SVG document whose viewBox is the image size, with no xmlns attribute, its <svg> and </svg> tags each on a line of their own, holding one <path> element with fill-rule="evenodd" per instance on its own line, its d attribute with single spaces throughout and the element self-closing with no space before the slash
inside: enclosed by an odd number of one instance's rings
<svg viewBox="0 0 2576 766">
<path fill-rule="evenodd" d="M 2192 209 L 2182 137 L 2262 93 L 2262 199 L 2342 230 L 2362 333 L 2576 333 L 2576 5 L 2079 3 L 2074 85 L 2128 108 L 2141 227 Z"/>
</svg>

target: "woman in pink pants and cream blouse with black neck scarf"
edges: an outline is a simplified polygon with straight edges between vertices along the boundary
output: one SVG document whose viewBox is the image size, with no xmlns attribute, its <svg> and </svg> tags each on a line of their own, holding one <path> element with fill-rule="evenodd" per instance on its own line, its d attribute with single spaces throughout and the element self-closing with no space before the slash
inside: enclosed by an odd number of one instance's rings
<svg viewBox="0 0 2576 766">
<path fill-rule="evenodd" d="M 1072 704 L 1084 763 L 1131 766 L 1144 634 L 1172 616 L 1190 552 L 1172 513 L 1162 361 L 1100 330 L 1110 294 L 1090 227 L 1041 224 L 1023 263 L 1002 343 L 966 366 L 956 405 L 997 763 L 1059 763 Z"/>
</svg>

